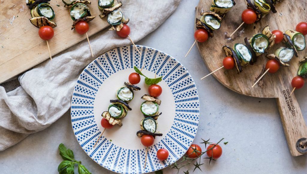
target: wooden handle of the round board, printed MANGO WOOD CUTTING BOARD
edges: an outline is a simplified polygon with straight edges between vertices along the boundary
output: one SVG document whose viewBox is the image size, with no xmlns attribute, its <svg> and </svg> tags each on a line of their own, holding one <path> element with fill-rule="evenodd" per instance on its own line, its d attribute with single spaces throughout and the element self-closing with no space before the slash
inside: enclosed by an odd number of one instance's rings
<svg viewBox="0 0 307 174">
<path fill-rule="evenodd" d="M 282 90 L 276 101 L 290 152 L 296 157 L 306 153 L 302 148 L 297 149 L 297 142 L 307 138 L 307 127 L 294 93 L 291 96 L 290 93 L 289 89 Z"/>
</svg>

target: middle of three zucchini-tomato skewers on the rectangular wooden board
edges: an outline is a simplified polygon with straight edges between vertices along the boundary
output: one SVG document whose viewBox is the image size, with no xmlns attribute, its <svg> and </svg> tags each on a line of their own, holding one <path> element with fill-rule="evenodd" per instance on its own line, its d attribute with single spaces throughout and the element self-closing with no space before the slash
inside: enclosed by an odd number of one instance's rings
<svg viewBox="0 0 307 174">
<path fill-rule="evenodd" d="M 76 32 L 80 35 L 86 34 L 91 55 L 94 57 L 90 40 L 88 39 L 87 35 L 87 31 L 89 30 L 89 25 L 87 22 L 95 18 L 95 16 L 91 15 L 90 9 L 87 6 L 87 4 L 91 4 L 91 2 L 80 0 L 62 0 L 62 2 L 65 4 L 64 7 L 70 8 L 70 17 L 74 21 L 72 24 L 72 29 L 75 28 Z"/>
</svg>

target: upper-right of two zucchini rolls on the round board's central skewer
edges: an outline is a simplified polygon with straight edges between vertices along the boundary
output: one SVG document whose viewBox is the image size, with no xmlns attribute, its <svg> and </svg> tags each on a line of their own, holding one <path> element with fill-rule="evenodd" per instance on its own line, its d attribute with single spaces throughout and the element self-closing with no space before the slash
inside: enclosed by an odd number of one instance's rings
<svg viewBox="0 0 307 174">
<path fill-rule="evenodd" d="M 269 46 L 269 39 L 263 34 L 255 34 L 250 40 L 249 43 L 253 47 L 253 50 L 256 53 L 256 56 L 264 53 L 266 48 Z"/>
</svg>

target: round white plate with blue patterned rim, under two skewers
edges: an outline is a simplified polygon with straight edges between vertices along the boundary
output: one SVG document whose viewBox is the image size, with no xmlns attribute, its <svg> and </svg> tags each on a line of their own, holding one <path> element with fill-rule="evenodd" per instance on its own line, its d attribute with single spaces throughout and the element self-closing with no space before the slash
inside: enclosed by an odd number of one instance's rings
<svg viewBox="0 0 307 174">
<path fill-rule="evenodd" d="M 142 56 L 130 45 L 115 48 L 99 56 L 82 72 L 76 83 L 71 102 L 71 121 L 75 136 L 82 149 L 99 165 L 118 173 L 147 173 L 167 167 L 159 161 L 156 153 L 164 148 L 169 151 L 168 161 L 180 159 L 191 145 L 199 122 L 199 100 L 196 85 L 180 62 L 173 57 L 153 48 L 138 46 Z M 141 96 L 148 93 L 144 78 L 138 84 L 142 88 L 134 92 L 128 111 L 122 119 L 123 126 L 115 125 L 103 133 L 99 142 L 94 144 L 103 131 L 100 124 L 101 113 L 115 99 L 115 92 L 128 81 L 133 66 L 144 69 L 148 77 L 163 76 L 159 83 L 163 92 L 159 111 L 157 130 L 163 133 L 156 137 L 149 147 L 146 168 L 146 147 L 142 146 L 136 132 L 144 118 L 140 112 L 143 102 Z"/>
</svg>

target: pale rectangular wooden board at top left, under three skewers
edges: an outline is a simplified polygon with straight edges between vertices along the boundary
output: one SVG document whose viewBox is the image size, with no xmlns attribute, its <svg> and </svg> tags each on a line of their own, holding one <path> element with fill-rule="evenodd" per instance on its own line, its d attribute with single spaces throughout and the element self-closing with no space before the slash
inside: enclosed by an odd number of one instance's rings
<svg viewBox="0 0 307 174">
<path fill-rule="evenodd" d="M 91 2 L 88 6 L 96 18 L 89 22 L 88 36 L 109 26 L 106 18 L 99 17 L 101 11 L 97 7 L 98 1 Z M 0 4 L 0 83 L 2 83 L 49 59 L 49 52 L 46 41 L 38 36 L 38 28 L 29 21 L 31 14 L 25 0 L 0 0 Z M 86 35 L 79 35 L 76 30 L 71 30 L 73 21 L 69 14 L 70 8 L 64 7 L 61 0 L 51 0 L 50 5 L 56 13 L 53 21 L 57 27 L 54 28 L 53 38 L 48 42 L 51 54 L 56 55 L 86 39 Z M 88 56 L 91 56 L 90 51 Z"/>
</svg>

